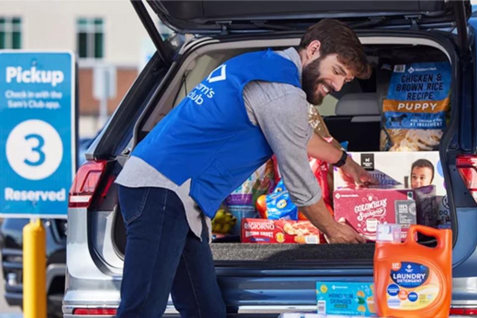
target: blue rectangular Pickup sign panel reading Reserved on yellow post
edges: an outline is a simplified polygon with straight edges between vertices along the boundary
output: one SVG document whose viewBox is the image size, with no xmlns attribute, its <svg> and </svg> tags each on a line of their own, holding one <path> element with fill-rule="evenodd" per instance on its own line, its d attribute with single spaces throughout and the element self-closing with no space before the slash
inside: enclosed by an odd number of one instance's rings
<svg viewBox="0 0 477 318">
<path fill-rule="evenodd" d="M 0 50 L 0 215 L 64 218 L 76 171 L 75 57 Z"/>
</svg>

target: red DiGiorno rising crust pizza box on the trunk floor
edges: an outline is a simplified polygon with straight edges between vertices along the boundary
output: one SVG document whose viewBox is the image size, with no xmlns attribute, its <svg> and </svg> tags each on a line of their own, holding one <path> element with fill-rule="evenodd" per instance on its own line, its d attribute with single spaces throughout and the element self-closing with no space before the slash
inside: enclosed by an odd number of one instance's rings
<svg viewBox="0 0 477 318">
<path fill-rule="evenodd" d="M 319 230 L 310 221 L 242 219 L 242 243 L 319 244 Z"/>
</svg>

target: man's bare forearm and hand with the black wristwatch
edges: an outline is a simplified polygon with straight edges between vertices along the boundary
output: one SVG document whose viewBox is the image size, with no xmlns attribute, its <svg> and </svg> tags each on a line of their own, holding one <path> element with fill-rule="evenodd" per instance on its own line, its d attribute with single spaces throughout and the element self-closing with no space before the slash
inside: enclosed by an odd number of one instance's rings
<svg viewBox="0 0 477 318">
<path fill-rule="evenodd" d="M 336 163 L 341 158 L 342 152 L 336 149 L 333 145 L 327 143 L 317 133 L 313 133 L 312 138 L 308 142 L 308 155 L 310 157 L 326 161 L 328 163 Z M 344 178 L 354 181 L 357 185 L 365 184 L 379 184 L 371 174 L 363 167 L 356 163 L 353 159 L 348 157 L 346 163 L 341 167 L 341 172 Z"/>
</svg>

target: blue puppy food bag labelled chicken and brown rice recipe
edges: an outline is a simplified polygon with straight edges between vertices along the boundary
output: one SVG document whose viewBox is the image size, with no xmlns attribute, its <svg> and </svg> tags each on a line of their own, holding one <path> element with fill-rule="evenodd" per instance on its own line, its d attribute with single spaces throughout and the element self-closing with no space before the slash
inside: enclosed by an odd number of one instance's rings
<svg viewBox="0 0 477 318">
<path fill-rule="evenodd" d="M 449 110 L 448 62 L 396 65 L 383 100 L 382 151 L 437 150 Z"/>
</svg>

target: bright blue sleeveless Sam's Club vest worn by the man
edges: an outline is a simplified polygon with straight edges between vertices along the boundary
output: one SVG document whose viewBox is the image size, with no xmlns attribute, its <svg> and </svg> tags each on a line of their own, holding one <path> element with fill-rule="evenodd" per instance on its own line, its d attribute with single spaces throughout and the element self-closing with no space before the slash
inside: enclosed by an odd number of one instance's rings
<svg viewBox="0 0 477 318">
<path fill-rule="evenodd" d="M 273 51 L 239 55 L 194 87 L 132 152 L 177 185 L 191 178 L 189 194 L 210 218 L 273 154 L 245 110 L 242 90 L 251 80 L 301 87 L 296 65 Z"/>
</svg>

